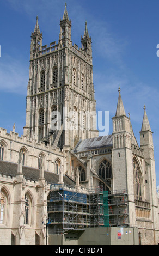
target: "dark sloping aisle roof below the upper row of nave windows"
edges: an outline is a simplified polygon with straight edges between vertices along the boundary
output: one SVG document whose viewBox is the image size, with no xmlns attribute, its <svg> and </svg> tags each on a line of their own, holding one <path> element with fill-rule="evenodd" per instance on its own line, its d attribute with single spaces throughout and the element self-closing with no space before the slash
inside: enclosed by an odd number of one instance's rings
<svg viewBox="0 0 159 256">
<path fill-rule="evenodd" d="M 0 174 L 10 176 L 11 178 L 15 177 L 17 174 L 17 166 L 18 164 L 16 163 L 0 160 Z M 32 167 L 23 166 L 22 172 L 24 178 L 30 181 L 38 181 L 40 176 L 40 170 Z M 48 184 L 57 184 L 59 181 L 59 175 L 52 172 L 44 171 L 44 178 Z M 63 176 L 63 181 L 64 184 L 75 186 L 75 183 L 65 175 Z"/>
</svg>

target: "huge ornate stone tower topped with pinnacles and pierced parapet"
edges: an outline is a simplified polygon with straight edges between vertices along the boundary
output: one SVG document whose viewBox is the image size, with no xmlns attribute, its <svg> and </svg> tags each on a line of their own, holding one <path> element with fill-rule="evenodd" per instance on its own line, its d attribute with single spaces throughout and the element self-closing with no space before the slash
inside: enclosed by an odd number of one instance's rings
<svg viewBox="0 0 159 256">
<path fill-rule="evenodd" d="M 98 136 L 93 85 L 91 38 L 87 22 L 78 49 L 71 41 L 71 20 L 65 10 L 58 44 L 42 46 L 38 17 L 31 35 L 26 126 L 28 139 L 60 148 Z"/>
</svg>

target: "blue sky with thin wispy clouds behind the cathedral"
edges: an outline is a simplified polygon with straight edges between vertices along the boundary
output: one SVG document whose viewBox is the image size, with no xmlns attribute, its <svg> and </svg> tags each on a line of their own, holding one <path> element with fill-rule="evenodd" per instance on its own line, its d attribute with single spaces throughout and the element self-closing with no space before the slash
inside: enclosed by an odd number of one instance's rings
<svg viewBox="0 0 159 256">
<path fill-rule="evenodd" d="M 144 104 L 154 132 L 156 180 L 159 185 L 159 18 L 158 0 L 68 0 L 72 42 L 81 47 L 85 21 L 92 38 L 97 111 L 109 111 L 109 133 L 121 88 L 139 142 Z M 1 0 L 0 127 L 23 133 L 29 78 L 30 35 L 39 16 L 42 45 L 58 42 L 63 0 Z"/>
</svg>

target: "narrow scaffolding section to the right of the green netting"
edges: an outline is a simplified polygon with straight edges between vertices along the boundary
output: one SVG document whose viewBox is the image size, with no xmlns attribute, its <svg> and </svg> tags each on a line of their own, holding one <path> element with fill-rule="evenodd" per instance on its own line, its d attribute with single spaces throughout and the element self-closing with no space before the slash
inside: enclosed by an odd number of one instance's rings
<svg viewBox="0 0 159 256">
<path fill-rule="evenodd" d="M 128 194 L 125 190 L 117 190 L 108 195 L 109 226 L 129 226 Z"/>
</svg>

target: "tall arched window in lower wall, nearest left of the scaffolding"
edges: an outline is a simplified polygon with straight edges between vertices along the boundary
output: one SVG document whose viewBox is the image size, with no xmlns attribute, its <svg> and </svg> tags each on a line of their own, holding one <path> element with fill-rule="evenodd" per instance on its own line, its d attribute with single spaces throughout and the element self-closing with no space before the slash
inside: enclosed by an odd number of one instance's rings
<svg viewBox="0 0 159 256">
<path fill-rule="evenodd" d="M 30 225 L 32 218 L 32 200 L 28 193 L 25 194 L 25 218 L 24 224 Z"/>
</svg>

